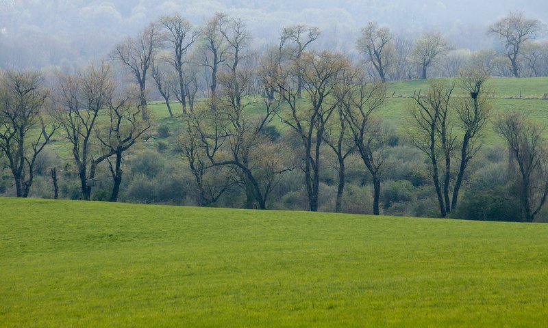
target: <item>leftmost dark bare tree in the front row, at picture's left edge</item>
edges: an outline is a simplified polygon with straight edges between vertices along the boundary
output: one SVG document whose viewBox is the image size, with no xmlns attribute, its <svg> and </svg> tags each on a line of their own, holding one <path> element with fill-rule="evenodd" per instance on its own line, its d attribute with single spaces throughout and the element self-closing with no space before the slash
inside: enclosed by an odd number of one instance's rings
<svg viewBox="0 0 548 328">
<path fill-rule="evenodd" d="M 8 159 L 17 197 L 27 197 L 36 157 L 58 128 L 41 120 L 49 92 L 36 72 L 8 70 L 0 77 L 0 150 Z M 42 133 L 35 133 L 42 123 Z"/>
</svg>

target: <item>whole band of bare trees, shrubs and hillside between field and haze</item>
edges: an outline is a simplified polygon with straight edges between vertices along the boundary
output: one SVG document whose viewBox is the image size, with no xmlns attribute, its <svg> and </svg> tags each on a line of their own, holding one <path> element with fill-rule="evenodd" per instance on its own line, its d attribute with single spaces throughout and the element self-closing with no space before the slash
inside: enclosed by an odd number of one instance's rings
<svg viewBox="0 0 548 328">
<path fill-rule="evenodd" d="M 82 67 L 1 69 L 0 193 L 546 221 L 543 31 L 510 12 L 471 51 L 371 21 L 349 53 L 163 15 Z"/>
</svg>

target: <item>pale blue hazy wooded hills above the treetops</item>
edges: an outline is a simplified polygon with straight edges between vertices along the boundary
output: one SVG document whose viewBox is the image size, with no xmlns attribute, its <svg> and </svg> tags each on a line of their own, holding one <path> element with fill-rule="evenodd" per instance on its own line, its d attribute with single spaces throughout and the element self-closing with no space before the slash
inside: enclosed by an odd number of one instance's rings
<svg viewBox="0 0 548 328">
<path fill-rule="evenodd" d="M 493 45 L 489 23 L 511 10 L 547 21 L 544 1 L 185 1 L 185 0 L 0 0 L 0 67 L 42 68 L 86 63 L 101 57 L 127 34 L 161 14 L 179 12 L 200 25 L 214 12 L 240 16 L 253 31 L 257 47 L 275 42 L 284 25 L 319 27 L 319 48 L 352 51 L 360 28 L 369 20 L 403 36 L 443 31 L 457 48 Z"/>
</svg>

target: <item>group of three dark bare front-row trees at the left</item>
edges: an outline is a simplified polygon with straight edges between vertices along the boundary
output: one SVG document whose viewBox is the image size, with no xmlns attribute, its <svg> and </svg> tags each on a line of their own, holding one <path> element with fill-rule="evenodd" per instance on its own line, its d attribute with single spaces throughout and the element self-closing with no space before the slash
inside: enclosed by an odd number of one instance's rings
<svg viewBox="0 0 548 328">
<path fill-rule="evenodd" d="M 36 159 L 57 133 L 71 145 L 82 199 L 90 200 L 97 165 L 106 161 L 114 181 L 110 200 L 116 202 L 124 152 L 150 127 L 138 117 L 137 97 L 119 90 L 105 63 L 60 74 L 57 85 L 52 92 L 37 72 L 7 71 L 0 79 L 0 148 L 16 195 L 29 195 Z"/>
</svg>

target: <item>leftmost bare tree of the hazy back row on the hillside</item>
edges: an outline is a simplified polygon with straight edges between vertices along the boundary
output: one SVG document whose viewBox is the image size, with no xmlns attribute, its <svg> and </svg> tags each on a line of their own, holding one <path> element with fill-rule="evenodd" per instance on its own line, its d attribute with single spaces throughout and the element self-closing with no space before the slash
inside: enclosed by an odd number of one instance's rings
<svg viewBox="0 0 548 328">
<path fill-rule="evenodd" d="M 162 36 L 158 25 L 150 23 L 135 38 L 127 37 L 114 46 L 110 53 L 112 60 L 120 61 L 129 72 L 134 74 L 139 86 L 142 118 L 147 120 L 147 72 L 152 64 L 156 51 L 162 45 Z"/>
</svg>

